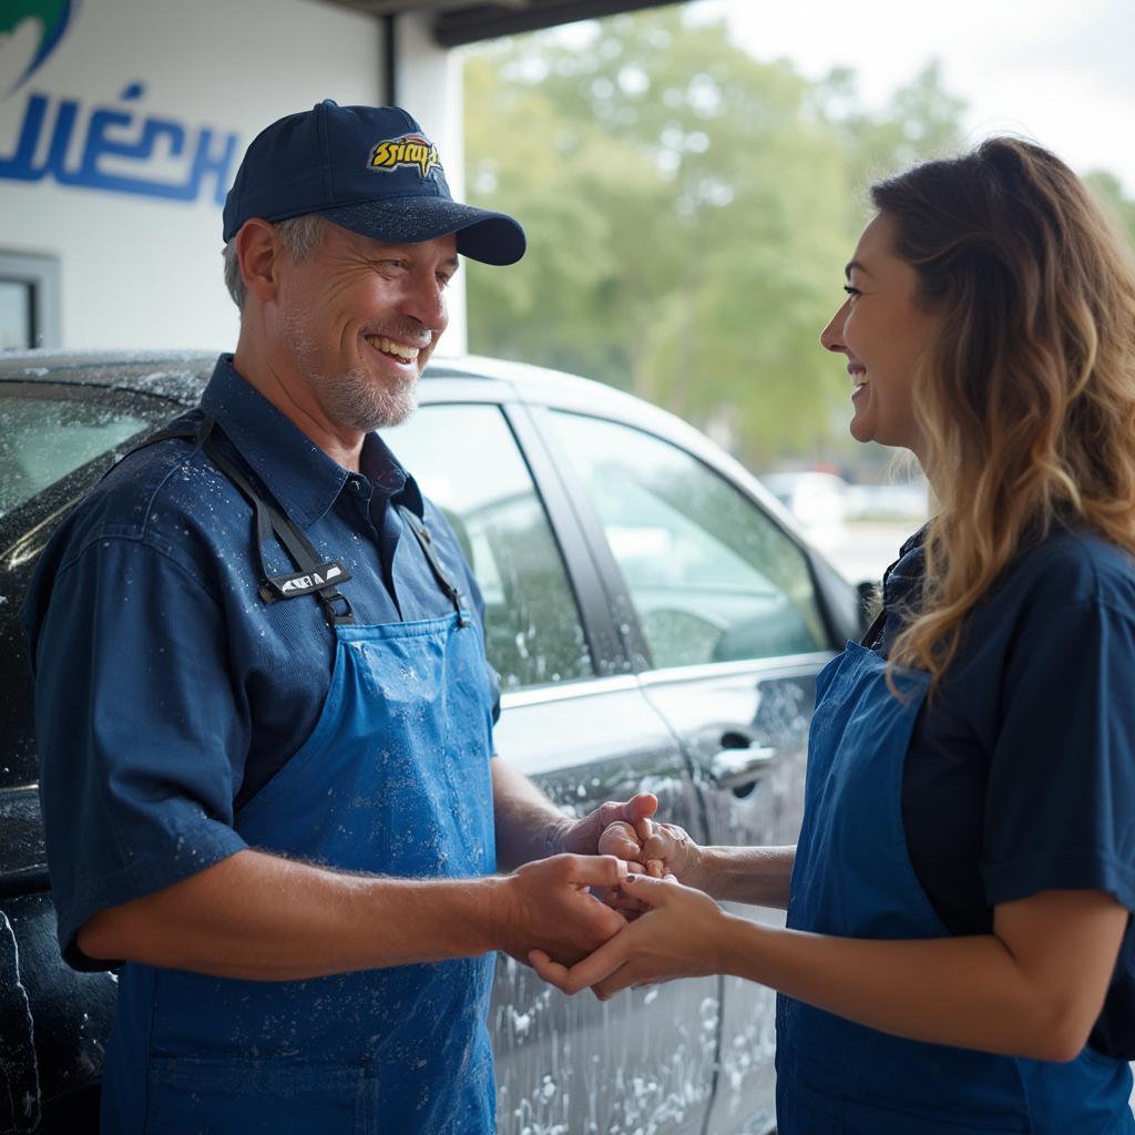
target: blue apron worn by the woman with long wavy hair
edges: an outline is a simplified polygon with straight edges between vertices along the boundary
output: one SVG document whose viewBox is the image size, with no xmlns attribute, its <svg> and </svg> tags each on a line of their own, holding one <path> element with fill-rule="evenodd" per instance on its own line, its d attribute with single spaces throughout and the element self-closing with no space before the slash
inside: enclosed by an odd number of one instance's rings
<svg viewBox="0 0 1135 1135">
<path fill-rule="evenodd" d="M 788 925 L 843 938 L 949 936 L 907 852 L 902 768 L 927 675 L 849 642 L 819 675 Z M 1129 1067 L 1090 1048 L 1068 1063 L 901 1040 L 776 1001 L 780 1135 L 1129 1135 Z"/>
</svg>

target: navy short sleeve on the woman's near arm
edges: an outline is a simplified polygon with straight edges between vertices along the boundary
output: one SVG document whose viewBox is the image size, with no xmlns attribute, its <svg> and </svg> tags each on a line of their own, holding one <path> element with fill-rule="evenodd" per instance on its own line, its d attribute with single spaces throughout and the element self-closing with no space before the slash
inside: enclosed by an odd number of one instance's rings
<svg viewBox="0 0 1135 1135">
<path fill-rule="evenodd" d="M 990 906 L 1102 890 L 1135 910 L 1135 612 L 1046 605 L 1001 693 L 982 855 Z"/>
</svg>

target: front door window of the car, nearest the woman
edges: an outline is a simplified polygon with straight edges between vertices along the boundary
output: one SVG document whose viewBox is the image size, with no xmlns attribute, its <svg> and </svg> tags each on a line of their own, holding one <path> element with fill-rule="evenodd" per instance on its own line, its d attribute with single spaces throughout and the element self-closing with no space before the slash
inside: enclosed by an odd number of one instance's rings
<svg viewBox="0 0 1135 1135">
<path fill-rule="evenodd" d="M 825 646 L 800 549 L 691 454 L 621 423 L 552 415 L 590 490 L 655 666 Z"/>
</svg>

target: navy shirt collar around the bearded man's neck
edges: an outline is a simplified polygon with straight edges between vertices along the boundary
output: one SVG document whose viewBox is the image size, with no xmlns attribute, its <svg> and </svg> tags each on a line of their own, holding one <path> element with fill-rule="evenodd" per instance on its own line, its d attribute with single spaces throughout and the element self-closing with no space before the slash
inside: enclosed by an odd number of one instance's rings
<svg viewBox="0 0 1135 1135">
<path fill-rule="evenodd" d="M 230 354 L 217 360 L 201 409 L 216 419 L 277 504 L 301 528 L 319 520 L 354 476 L 244 379 L 233 367 Z M 376 491 L 422 515 L 417 484 L 377 434 L 363 439 L 360 470 Z"/>
</svg>

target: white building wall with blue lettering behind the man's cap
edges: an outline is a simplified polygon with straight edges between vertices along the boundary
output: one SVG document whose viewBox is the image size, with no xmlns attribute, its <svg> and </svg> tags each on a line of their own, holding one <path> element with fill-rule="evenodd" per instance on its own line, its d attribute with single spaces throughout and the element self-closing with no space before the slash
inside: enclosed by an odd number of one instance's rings
<svg viewBox="0 0 1135 1135">
<path fill-rule="evenodd" d="M 0 36 L 0 95 L 34 54 L 37 32 L 25 23 Z M 413 33 L 404 36 L 400 69 L 417 77 L 406 79 L 402 98 L 438 142 L 457 190 L 460 101 L 454 118 L 453 92 L 445 90 L 453 68 L 423 26 Z M 36 168 L 61 100 L 73 100 L 78 109 L 65 176 L 81 169 L 91 116 L 102 108 L 131 116 L 131 125 L 108 137 L 137 140 L 142 120 L 167 119 L 184 127 L 190 155 L 202 127 L 213 132 L 215 148 L 235 133 L 230 182 L 247 143 L 281 115 L 323 98 L 378 102 L 381 49 L 379 20 L 311 0 L 84 0 L 43 66 L 0 96 L 0 173 L 17 153 L 32 96 L 41 94 L 48 112 Z M 144 92 L 124 100 L 132 83 Z M 98 169 L 185 184 L 191 157 L 168 150 L 161 142 L 146 160 L 103 154 Z M 34 182 L 0 176 L 0 253 L 59 258 L 66 347 L 225 348 L 236 340 L 237 318 L 221 283 L 216 182 L 207 178 L 196 200 L 179 202 L 64 185 L 51 173 Z M 463 339 L 463 303 L 454 306 L 462 310 L 452 338 Z"/>
</svg>

